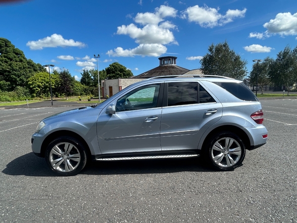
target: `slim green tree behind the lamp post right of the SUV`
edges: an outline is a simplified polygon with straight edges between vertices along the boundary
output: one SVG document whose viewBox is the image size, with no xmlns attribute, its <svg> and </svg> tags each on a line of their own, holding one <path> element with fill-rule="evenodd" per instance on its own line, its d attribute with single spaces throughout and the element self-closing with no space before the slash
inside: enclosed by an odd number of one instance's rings
<svg viewBox="0 0 297 223">
<path fill-rule="evenodd" d="M 252 65 L 252 69 L 249 74 L 250 78 L 250 84 L 256 86 L 258 83 L 258 86 L 261 87 L 261 94 L 263 94 L 264 86 L 267 86 L 270 84 L 270 77 L 269 77 L 269 67 L 271 63 L 273 62 L 273 58 L 266 57 L 262 62 L 255 62 Z M 258 82 L 257 82 L 257 76 L 258 76 Z"/>
</svg>

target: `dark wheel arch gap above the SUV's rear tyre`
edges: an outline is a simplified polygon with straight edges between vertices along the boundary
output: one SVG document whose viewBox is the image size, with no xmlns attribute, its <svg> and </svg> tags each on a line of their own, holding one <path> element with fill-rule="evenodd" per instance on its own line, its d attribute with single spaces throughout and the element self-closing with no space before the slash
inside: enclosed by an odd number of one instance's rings
<svg viewBox="0 0 297 223">
<path fill-rule="evenodd" d="M 243 143 L 245 144 L 246 149 L 250 148 L 249 137 L 243 129 L 241 129 L 240 127 L 234 126 L 234 125 L 222 125 L 222 126 L 219 126 L 215 129 L 211 130 L 207 134 L 207 136 L 204 138 L 203 142 L 199 143 L 198 149 L 203 150 L 204 148 L 206 148 L 207 143 L 209 142 L 209 140 L 211 139 L 211 137 L 213 135 L 215 135 L 219 132 L 224 132 L 224 131 L 225 132 L 229 131 L 229 132 L 232 132 L 232 133 L 238 135 L 241 138 L 241 140 L 243 141 Z"/>
</svg>

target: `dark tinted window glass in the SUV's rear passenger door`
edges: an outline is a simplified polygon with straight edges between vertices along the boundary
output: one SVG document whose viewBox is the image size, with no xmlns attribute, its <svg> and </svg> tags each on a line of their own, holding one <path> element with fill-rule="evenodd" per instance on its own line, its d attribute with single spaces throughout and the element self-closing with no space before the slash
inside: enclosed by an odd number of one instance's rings
<svg viewBox="0 0 297 223">
<path fill-rule="evenodd" d="M 216 101 L 198 82 L 168 83 L 168 106 L 213 102 L 215 103 Z"/>
</svg>

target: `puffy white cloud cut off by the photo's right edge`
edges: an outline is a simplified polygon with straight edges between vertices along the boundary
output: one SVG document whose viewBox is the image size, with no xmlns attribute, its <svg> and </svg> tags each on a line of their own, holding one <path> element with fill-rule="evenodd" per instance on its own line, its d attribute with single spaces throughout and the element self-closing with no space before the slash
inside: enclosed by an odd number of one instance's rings
<svg viewBox="0 0 297 223">
<path fill-rule="evenodd" d="M 290 12 L 278 13 L 275 19 L 271 19 L 263 26 L 271 34 L 297 35 L 297 13 L 293 15 Z"/>
</svg>

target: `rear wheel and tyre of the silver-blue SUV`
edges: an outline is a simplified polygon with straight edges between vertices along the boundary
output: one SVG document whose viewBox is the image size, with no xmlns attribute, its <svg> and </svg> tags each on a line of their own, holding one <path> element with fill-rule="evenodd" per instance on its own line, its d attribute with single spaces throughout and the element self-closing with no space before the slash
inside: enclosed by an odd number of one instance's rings
<svg viewBox="0 0 297 223">
<path fill-rule="evenodd" d="M 240 137 L 226 131 L 215 134 L 204 152 L 212 167 L 227 171 L 242 164 L 246 147 Z"/>
</svg>

